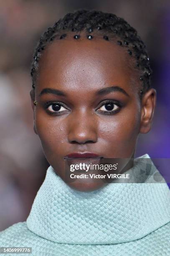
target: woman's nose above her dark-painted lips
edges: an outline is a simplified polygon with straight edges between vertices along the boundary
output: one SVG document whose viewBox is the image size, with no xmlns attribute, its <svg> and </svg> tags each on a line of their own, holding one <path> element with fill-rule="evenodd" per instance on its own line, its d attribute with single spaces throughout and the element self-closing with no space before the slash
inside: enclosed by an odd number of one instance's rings
<svg viewBox="0 0 170 256">
<path fill-rule="evenodd" d="M 95 143 L 97 141 L 97 123 L 92 113 L 77 113 L 69 122 L 69 143 Z"/>
</svg>

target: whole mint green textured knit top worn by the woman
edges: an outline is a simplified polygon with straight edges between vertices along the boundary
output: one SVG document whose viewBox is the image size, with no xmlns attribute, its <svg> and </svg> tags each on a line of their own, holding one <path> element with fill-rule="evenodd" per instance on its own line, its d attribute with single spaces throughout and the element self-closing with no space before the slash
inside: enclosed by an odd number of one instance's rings
<svg viewBox="0 0 170 256">
<path fill-rule="evenodd" d="M 143 158 L 127 171 L 137 182 Z M 155 172 L 152 164 L 143 183 L 80 192 L 50 166 L 26 222 L 0 232 L 0 246 L 32 247 L 32 254 L 11 256 L 170 256 L 170 190 L 164 179 L 153 183 Z"/>
</svg>

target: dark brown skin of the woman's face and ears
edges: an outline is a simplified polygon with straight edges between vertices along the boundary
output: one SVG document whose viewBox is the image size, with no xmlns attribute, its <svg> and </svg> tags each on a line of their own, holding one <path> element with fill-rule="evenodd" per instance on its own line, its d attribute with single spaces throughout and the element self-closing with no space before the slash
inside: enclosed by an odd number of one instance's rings
<svg viewBox="0 0 170 256">
<path fill-rule="evenodd" d="M 76 190 L 93 191 L 106 183 L 102 179 L 68 182 L 64 156 L 91 152 L 104 158 L 131 159 L 139 133 L 150 131 L 156 91 L 148 90 L 140 100 L 142 82 L 132 58 L 114 42 L 86 37 L 76 41 L 70 36 L 48 45 L 39 61 L 35 92 L 30 91 L 34 131 L 49 164 Z M 112 90 L 103 90 L 108 87 Z M 45 88 L 60 90 L 65 96 L 39 96 Z M 114 102 L 110 115 L 104 105 L 107 100 Z M 63 106 L 52 115 L 52 105 L 45 108 L 49 101 Z"/>
</svg>

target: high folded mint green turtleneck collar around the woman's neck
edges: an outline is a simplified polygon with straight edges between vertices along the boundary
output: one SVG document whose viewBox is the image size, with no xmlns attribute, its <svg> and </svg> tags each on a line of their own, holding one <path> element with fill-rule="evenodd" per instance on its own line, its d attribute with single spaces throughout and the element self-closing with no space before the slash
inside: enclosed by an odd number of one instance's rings
<svg viewBox="0 0 170 256">
<path fill-rule="evenodd" d="M 149 156 L 135 159 L 127 171 L 135 181 L 144 158 Z M 152 175 L 143 183 L 109 183 L 80 192 L 49 166 L 27 218 L 28 229 L 55 243 L 114 244 L 142 238 L 170 221 L 170 190 L 166 183 L 152 183 L 155 172 L 152 164 Z"/>
</svg>

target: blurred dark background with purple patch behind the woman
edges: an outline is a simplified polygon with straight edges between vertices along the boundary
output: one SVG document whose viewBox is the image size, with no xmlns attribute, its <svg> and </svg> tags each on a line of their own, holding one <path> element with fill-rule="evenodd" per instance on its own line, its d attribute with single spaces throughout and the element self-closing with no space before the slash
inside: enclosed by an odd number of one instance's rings
<svg viewBox="0 0 170 256">
<path fill-rule="evenodd" d="M 152 131 L 140 135 L 136 156 L 170 158 L 169 0 L 0 1 L 0 231 L 26 220 L 48 167 L 33 132 L 33 49 L 46 28 L 79 8 L 115 13 L 139 32 L 154 72 L 157 107 Z"/>
</svg>

